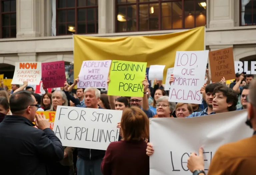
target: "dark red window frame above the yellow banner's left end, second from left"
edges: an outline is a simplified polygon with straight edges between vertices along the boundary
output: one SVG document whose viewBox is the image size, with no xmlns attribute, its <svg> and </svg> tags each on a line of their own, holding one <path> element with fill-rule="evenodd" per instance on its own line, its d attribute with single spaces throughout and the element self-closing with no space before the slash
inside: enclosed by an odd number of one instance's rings
<svg viewBox="0 0 256 175">
<path fill-rule="evenodd" d="M 98 26 L 99 26 L 99 15 L 97 14 L 97 11 L 99 12 L 99 0 L 95 0 L 95 2 L 97 2 L 98 5 L 95 5 L 95 6 L 82 6 L 82 7 L 78 7 L 78 0 L 74 0 L 75 1 L 75 6 L 74 7 L 67 7 L 67 0 L 66 0 L 66 7 L 64 8 L 58 8 L 58 2 L 59 0 L 56 0 L 56 36 L 65 36 L 65 35 L 72 35 L 73 33 L 67 33 L 66 31 L 66 34 L 59 34 L 59 24 L 66 24 L 66 27 L 67 27 L 67 24 L 68 23 L 72 23 L 72 22 L 67 22 L 67 12 L 65 13 L 66 16 L 65 16 L 65 20 L 66 22 L 58 22 L 58 11 L 60 10 L 75 10 L 75 32 L 74 34 L 97 34 L 99 32 L 97 32 L 99 30 L 99 27 L 97 29 L 97 23 L 98 23 Z M 87 0 L 86 1 L 86 4 L 87 4 Z M 87 11 L 85 13 L 86 17 L 85 17 L 85 33 L 78 33 L 78 10 L 79 9 L 95 9 L 94 11 L 94 15 L 95 15 L 95 19 L 94 19 L 94 27 L 95 27 L 95 33 L 87 33 Z M 96 18 L 98 17 L 98 18 Z"/>
</svg>

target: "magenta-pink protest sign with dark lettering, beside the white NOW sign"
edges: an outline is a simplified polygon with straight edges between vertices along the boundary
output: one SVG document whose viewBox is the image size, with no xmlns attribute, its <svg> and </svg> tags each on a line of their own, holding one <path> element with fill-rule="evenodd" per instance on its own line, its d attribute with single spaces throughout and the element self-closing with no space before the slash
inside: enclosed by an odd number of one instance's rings
<svg viewBox="0 0 256 175">
<path fill-rule="evenodd" d="M 42 63 L 42 81 L 45 88 L 63 87 L 66 81 L 64 61 Z"/>
</svg>

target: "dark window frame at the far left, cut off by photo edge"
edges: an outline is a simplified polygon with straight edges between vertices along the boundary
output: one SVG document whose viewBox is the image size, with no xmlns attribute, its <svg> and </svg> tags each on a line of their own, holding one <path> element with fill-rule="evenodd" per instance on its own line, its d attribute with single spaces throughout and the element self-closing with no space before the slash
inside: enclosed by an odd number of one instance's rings
<svg viewBox="0 0 256 175">
<path fill-rule="evenodd" d="M 2 12 L 2 2 L 4 1 L 9 1 L 10 2 L 10 11 L 9 12 Z M 16 9 L 15 11 L 11 11 L 11 1 L 12 0 L 0 0 L 0 39 L 5 39 L 5 38 L 16 38 L 17 35 L 17 0 L 13 0 L 15 1 L 15 6 Z M 15 21 L 15 26 L 11 25 L 11 14 L 15 14 L 16 15 L 16 21 Z M 2 24 L 2 16 L 3 15 L 10 15 L 9 17 L 9 25 L 8 26 L 3 26 Z M 3 37 L 3 27 L 9 27 L 9 37 Z M 15 27 L 16 28 L 16 35 L 11 37 L 11 27 Z"/>
</svg>

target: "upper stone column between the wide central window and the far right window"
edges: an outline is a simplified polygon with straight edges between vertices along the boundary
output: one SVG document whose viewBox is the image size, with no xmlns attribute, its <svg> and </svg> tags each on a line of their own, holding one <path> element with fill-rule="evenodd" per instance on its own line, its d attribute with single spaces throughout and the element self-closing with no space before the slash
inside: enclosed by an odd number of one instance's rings
<svg viewBox="0 0 256 175">
<path fill-rule="evenodd" d="M 210 0 L 210 28 L 234 27 L 234 0 Z"/>
</svg>

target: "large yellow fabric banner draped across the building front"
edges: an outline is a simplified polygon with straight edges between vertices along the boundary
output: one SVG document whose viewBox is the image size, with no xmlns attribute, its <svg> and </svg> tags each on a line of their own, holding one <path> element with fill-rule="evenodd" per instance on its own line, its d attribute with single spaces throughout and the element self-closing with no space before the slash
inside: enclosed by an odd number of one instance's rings
<svg viewBox="0 0 256 175">
<path fill-rule="evenodd" d="M 176 51 L 204 50 L 205 27 L 155 36 L 89 37 L 74 35 L 74 78 L 85 60 L 122 60 L 174 67 Z M 114 77 L 112 77 L 113 79 Z M 164 82 L 163 82 L 164 84 Z"/>
</svg>

